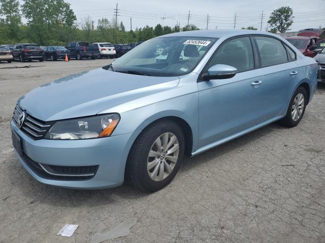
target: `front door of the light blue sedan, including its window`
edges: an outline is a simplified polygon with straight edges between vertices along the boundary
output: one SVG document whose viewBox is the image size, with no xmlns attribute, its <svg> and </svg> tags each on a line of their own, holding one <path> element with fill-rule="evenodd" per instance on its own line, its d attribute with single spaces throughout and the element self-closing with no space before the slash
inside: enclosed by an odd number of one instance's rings
<svg viewBox="0 0 325 243">
<path fill-rule="evenodd" d="M 203 73 L 216 64 L 236 67 L 229 79 L 199 80 L 199 147 L 230 137 L 257 124 L 262 74 L 249 36 L 223 43 Z"/>
</svg>

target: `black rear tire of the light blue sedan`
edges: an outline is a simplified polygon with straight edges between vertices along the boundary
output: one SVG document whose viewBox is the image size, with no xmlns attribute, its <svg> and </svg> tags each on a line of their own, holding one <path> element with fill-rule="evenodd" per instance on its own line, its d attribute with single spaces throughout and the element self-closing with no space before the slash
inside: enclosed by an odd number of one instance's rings
<svg viewBox="0 0 325 243">
<path fill-rule="evenodd" d="M 304 106 L 302 107 L 302 109 L 299 109 L 299 107 L 301 107 L 301 105 L 299 105 L 298 109 L 297 109 L 297 108 L 295 108 L 295 107 L 297 107 L 296 103 L 297 103 L 297 101 L 299 102 L 301 95 L 303 95 L 304 100 L 303 100 L 302 104 Z M 295 106 L 294 106 L 294 103 L 295 103 Z M 290 100 L 286 115 L 281 120 L 279 120 L 279 124 L 281 124 L 284 127 L 288 127 L 288 128 L 296 127 L 300 123 L 301 119 L 304 116 L 306 105 L 307 105 L 307 92 L 303 87 L 299 87 Z M 295 110 L 297 112 L 295 112 Z M 293 114 L 291 114 L 291 112 Z M 299 115 L 299 113 L 300 113 L 300 115 Z M 296 116 L 296 114 L 297 114 L 297 116 Z"/>
</svg>

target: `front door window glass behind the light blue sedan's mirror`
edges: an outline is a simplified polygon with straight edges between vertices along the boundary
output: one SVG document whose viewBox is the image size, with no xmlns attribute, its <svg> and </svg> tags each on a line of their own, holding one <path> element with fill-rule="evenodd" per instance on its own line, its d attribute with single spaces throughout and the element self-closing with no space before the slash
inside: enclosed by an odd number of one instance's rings
<svg viewBox="0 0 325 243">
<path fill-rule="evenodd" d="M 253 49 L 249 37 L 231 39 L 222 44 L 212 57 L 208 68 L 216 64 L 225 64 L 244 72 L 254 68 Z"/>
</svg>

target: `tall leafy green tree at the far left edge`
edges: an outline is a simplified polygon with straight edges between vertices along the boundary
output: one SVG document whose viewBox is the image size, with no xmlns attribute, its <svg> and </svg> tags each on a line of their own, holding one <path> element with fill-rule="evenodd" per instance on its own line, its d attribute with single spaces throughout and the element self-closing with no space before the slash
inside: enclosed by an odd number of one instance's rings
<svg viewBox="0 0 325 243">
<path fill-rule="evenodd" d="M 19 1 L 0 0 L 0 4 L 0 16 L 3 15 L 5 17 L 2 20 L 4 31 L 1 33 L 2 35 L 7 35 L 7 37 L 10 39 L 16 39 L 19 35 L 19 26 L 21 25 Z"/>
</svg>

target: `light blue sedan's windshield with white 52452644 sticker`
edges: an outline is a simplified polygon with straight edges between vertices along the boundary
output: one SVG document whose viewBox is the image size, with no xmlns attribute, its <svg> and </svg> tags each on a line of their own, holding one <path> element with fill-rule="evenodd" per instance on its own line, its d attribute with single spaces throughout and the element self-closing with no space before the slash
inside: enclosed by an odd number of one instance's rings
<svg viewBox="0 0 325 243">
<path fill-rule="evenodd" d="M 114 71 L 150 76 L 179 76 L 191 72 L 217 38 L 158 37 L 117 59 Z"/>
</svg>

